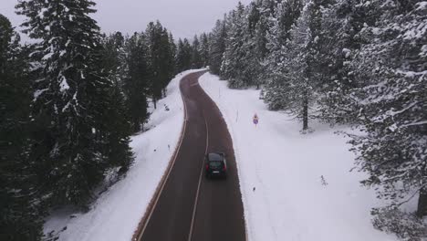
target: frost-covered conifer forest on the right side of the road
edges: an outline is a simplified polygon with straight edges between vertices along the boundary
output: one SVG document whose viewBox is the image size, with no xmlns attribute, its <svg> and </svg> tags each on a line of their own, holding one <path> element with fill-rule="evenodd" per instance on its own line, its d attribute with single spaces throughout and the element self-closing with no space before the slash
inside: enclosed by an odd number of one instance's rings
<svg viewBox="0 0 427 241">
<path fill-rule="evenodd" d="M 229 87 L 261 89 L 271 110 L 302 121 L 350 124 L 364 185 L 388 205 L 375 227 L 425 236 L 427 5 L 422 0 L 255 0 L 209 36 L 209 66 Z M 418 198 L 418 210 L 401 205 Z"/>
</svg>

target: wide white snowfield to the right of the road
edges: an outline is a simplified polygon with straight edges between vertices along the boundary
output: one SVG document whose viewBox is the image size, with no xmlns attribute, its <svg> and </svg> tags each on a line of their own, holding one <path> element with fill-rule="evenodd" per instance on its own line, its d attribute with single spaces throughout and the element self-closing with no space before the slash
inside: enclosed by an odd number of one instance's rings
<svg viewBox="0 0 427 241">
<path fill-rule="evenodd" d="M 310 123 L 315 132 L 303 135 L 301 123 L 266 110 L 258 90 L 227 89 L 211 74 L 200 83 L 234 141 L 250 241 L 397 240 L 370 223 L 370 208 L 380 203 L 360 186 L 362 173 L 349 173 L 354 155 L 334 134 L 343 128 Z"/>
</svg>

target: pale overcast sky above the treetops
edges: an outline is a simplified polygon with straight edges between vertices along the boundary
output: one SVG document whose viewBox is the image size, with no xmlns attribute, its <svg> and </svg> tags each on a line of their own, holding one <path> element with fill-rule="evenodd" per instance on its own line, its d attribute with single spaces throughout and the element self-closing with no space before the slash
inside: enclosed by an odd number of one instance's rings
<svg viewBox="0 0 427 241">
<path fill-rule="evenodd" d="M 14 26 L 23 21 L 16 16 L 16 0 L 0 0 L 0 14 Z M 132 34 L 145 29 L 150 21 L 159 19 L 173 36 L 193 37 L 210 31 L 216 19 L 233 9 L 239 0 L 95 0 L 98 13 L 94 16 L 103 32 L 121 31 Z M 248 4 L 251 0 L 241 0 Z"/>
</svg>

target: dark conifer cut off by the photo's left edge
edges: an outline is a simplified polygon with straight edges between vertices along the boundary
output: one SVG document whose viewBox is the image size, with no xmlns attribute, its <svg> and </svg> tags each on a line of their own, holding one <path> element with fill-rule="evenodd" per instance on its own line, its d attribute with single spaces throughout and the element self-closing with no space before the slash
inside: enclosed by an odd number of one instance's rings
<svg viewBox="0 0 427 241">
<path fill-rule="evenodd" d="M 0 15 L 0 239 L 35 240 L 42 214 L 34 165 L 28 158 L 28 47 Z"/>
</svg>

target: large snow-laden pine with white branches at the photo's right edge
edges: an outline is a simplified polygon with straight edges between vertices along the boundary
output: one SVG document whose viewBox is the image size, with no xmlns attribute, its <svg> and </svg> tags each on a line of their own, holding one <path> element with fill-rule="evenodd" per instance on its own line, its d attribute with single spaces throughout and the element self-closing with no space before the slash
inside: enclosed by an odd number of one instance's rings
<svg viewBox="0 0 427 241">
<path fill-rule="evenodd" d="M 366 3 L 377 20 L 360 36 L 352 99 L 365 135 L 354 136 L 363 183 L 399 207 L 419 197 L 427 214 L 427 5 L 422 1 Z M 375 19 L 372 17 L 371 19 Z M 384 229 L 391 228 L 390 226 Z M 390 229 L 389 229 L 390 231 Z"/>
</svg>

